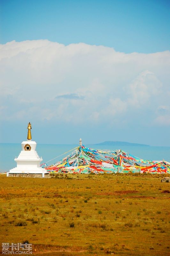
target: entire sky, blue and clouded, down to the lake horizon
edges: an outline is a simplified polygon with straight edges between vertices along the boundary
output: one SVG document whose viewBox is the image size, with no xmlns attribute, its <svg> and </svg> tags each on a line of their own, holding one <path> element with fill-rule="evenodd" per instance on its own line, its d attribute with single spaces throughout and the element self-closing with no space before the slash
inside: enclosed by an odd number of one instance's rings
<svg viewBox="0 0 170 256">
<path fill-rule="evenodd" d="M 170 146 L 169 1 L 0 7 L 0 142 Z"/>
</svg>

